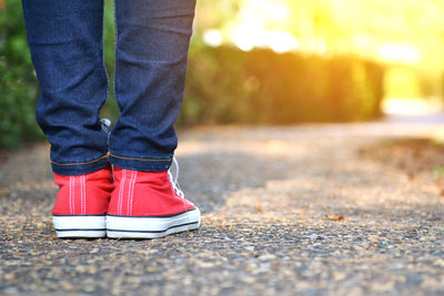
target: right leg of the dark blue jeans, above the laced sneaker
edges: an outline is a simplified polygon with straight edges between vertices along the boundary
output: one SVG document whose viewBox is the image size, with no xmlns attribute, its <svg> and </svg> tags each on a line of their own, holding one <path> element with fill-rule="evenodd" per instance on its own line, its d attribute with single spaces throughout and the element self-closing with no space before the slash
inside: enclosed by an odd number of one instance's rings
<svg viewBox="0 0 444 296">
<path fill-rule="evenodd" d="M 115 0 L 114 88 L 121 115 L 109 159 L 119 167 L 170 167 L 194 9 L 195 0 Z"/>
</svg>

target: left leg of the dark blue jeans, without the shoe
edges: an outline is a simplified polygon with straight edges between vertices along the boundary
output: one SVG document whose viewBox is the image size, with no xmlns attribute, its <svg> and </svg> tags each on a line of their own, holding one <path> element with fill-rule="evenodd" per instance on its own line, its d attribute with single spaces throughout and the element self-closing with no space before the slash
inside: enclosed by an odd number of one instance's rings
<svg viewBox="0 0 444 296">
<path fill-rule="evenodd" d="M 107 100 L 102 0 L 23 0 L 40 84 L 37 120 L 51 143 L 52 170 L 85 174 L 108 165 L 99 110 Z"/>
</svg>

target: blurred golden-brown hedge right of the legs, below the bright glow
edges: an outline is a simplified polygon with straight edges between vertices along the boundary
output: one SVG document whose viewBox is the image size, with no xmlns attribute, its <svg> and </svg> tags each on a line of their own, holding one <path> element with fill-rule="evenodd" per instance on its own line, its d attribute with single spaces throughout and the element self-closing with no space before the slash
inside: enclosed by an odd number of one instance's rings
<svg viewBox="0 0 444 296">
<path fill-rule="evenodd" d="M 179 124 L 372 120 L 382 99 L 383 69 L 359 58 L 202 47 L 190 57 Z"/>
</svg>

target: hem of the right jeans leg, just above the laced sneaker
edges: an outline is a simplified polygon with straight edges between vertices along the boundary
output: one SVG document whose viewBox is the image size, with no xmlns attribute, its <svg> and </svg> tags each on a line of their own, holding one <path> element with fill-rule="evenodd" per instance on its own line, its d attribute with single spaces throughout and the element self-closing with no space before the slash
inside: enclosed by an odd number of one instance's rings
<svg viewBox="0 0 444 296">
<path fill-rule="evenodd" d="M 168 171 L 172 162 L 172 157 L 129 157 L 115 155 L 113 153 L 110 153 L 108 159 L 113 165 L 120 169 L 142 172 Z"/>
</svg>

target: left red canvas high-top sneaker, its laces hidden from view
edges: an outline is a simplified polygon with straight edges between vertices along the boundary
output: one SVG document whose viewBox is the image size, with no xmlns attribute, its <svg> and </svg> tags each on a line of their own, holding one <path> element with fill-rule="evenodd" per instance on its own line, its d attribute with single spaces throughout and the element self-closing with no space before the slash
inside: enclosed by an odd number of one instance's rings
<svg viewBox="0 0 444 296">
<path fill-rule="evenodd" d="M 52 222 L 59 237 L 103 237 L 112 191 L 111 165 L 97 172 L 64 176 L 54 174 L 59 185 Z"/>
</svg>

